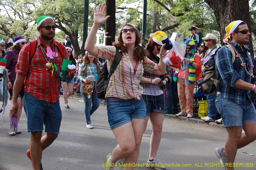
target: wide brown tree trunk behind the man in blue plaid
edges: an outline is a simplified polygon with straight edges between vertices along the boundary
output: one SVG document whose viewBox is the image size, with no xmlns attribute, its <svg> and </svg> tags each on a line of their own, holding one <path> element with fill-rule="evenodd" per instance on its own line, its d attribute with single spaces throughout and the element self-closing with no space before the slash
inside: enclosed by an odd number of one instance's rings
<svg viewBox="0 0 256 170">
<path fill-rule="evenodd" d="M 205 2 L 212 8 L 218 28 L 220 31 L 220 40 L 226 36 L 225 27 L 230 22 L 242 20 L 251 30 L 251 22 L 249 15 L 249 0 L 205 0 Z M 249 43 L 247 44 L 253 53 L 253 45 L 250 35 Z"/>
</svg>

